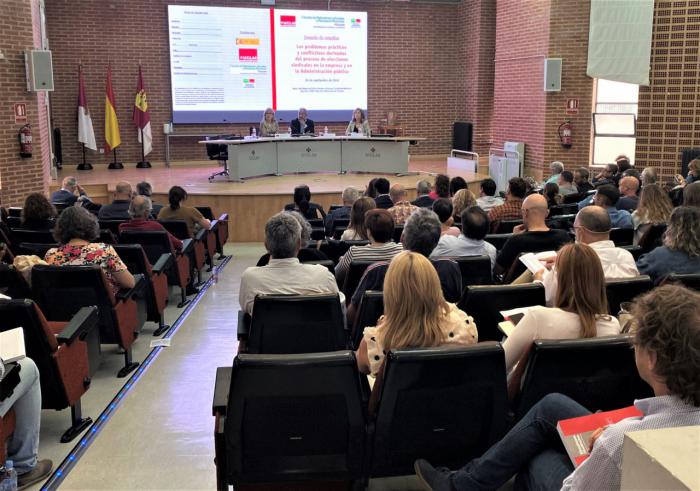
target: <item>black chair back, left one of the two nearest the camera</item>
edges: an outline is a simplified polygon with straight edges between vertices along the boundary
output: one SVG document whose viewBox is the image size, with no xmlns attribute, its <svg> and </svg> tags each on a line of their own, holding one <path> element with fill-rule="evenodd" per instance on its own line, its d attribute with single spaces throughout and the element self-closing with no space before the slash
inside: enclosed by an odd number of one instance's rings
<svg viewBox="0 0 700 491">
<path fill-rule="evenodd" d="M 365 412 L 352 351 L 240 354 L 226 414 L 234 486 L 362 477 Z"/>
</svg>

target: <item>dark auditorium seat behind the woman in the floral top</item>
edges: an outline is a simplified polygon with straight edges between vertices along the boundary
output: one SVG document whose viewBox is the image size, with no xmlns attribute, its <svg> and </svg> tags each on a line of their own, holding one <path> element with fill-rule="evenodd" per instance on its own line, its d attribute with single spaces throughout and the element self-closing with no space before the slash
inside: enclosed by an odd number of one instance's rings
<svg viewBox="0 0 700 491">
<path fill-rule="evenodd" d="M 32 268 L 32 294 L 52 321 L 67 321 L 82 307 L 96 305 L 100 342 L 124 350 L 124 367 L 117 375 L 125 377 L 138 366 L 131 359 L 134 333 L 141 327 L 134 296 L 144 288 L 145 280 L 136 278 L 133 289 L 115 295 L 99 266 L 37 265 Z"/>
</svg>

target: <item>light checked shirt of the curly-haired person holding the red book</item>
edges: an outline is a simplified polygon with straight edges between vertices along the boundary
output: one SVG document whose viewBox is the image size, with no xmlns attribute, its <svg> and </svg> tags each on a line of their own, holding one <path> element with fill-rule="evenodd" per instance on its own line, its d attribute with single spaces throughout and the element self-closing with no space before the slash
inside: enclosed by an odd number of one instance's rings
<svg viewBox="0 0 700 491">
<path fill-rule="evenodd" d="M 700 425 L 700 407 L 687 404 L 677 396 L 650 397 L 634 401 L 634 405 L 644 416 L 624 419 L 608 427 L 596 440 L 591 455 L 564 479 L 562 491 L 620 489 L 625 433 Z"/>
</svg>

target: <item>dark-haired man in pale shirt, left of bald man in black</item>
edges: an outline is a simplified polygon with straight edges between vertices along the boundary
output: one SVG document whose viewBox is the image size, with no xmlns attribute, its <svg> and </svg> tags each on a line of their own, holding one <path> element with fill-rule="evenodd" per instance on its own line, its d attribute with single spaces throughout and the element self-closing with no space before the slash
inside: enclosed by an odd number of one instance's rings
<svg viewBox="0 0 700 491">
<path fill-rule="evenodd" d="M 489 218 L 486 212 L 478 206 L 469 207 L 462 211 L 462 232 L 459 236 L 442 235 L 430 257 L 483 255 L 491 259 L 491 269 L 493 269 L 497 251 L 493 244 L 484 240 L 488 232 Z"/>
</svg>

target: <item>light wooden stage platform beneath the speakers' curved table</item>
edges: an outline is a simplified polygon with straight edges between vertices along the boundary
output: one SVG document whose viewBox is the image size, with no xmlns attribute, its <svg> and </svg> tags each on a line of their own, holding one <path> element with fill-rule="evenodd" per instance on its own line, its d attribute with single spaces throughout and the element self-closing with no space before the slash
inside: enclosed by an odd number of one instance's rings
<svg viewBox="0 0 700 491">
<path fill-rule="evenodd" d="M 445 159 L 412 159 L 409 171 L 420 175 L 396 177 L 389 174 L 385 177 L 392 183 L 399 182 L 406 186 L 409 197 L 414 199 L 416 182 L 420 179 L 432 182 L 431 174 L 446 171 L 445 162 Z M 328 209 L 331 204 L 341 203 L 340 193 L 345 187 L 364 188 L 370 179 L 382 176 L 374 173 L 309 173 L 256 177 L 242 183 L 225 180 L 208 182 L 207 178 L 220 169 L 211 165 L 154 166 L 151 169 L 126 167 L 120 170 L 109 170 L 100 166 L 91 171 L 77 171 L 73 166 L 64 166 L 58 174 L 57 184 L 60 187 L 63 177 L 74 175 L 81 185 L 88 185 L 88 194 L 93 195 L 96 201 L 109 202 L 117 182 L 129 181 L 136 184 L 139 181 L 148 181 L 153 186 L 154 201 L 161 204 L 167 204 L 167 193 L 171 186 L 182 186 L 189 195 L 188 204 L 211 206 L 214 213 L 229 214 L 229 240 L 262 242 L 265 222 L 270 216 L 281 211 L 285 204 L 292 202 L 295 186 L 308 185 L 311 188 L 312 201 Z M 479 183 L 488 176 L 465 174 L 462 177 L 478 196 Z M 54 190 L 56 184 L 51 188 Z"/>
</svg>

